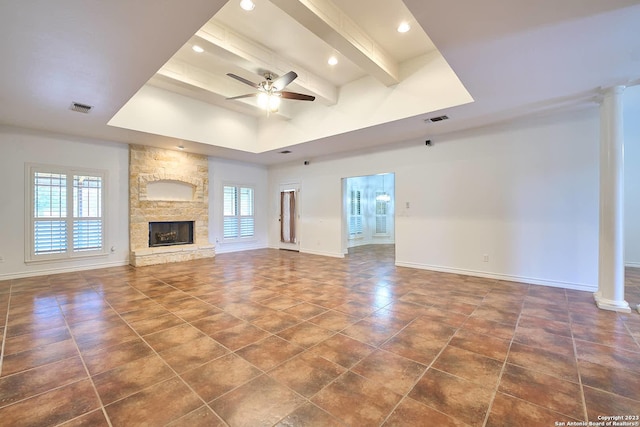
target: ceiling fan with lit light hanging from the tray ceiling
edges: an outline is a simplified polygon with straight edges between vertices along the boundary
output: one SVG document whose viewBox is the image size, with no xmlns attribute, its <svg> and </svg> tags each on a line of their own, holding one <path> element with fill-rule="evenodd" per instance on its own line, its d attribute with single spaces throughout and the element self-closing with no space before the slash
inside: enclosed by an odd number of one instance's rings
<svg viewBox="0 0 640 427">
<path fill-rule="evenodd" d="M 280 105 L 281 98 L 293 99 L 298 101 L 313 101 L 316 99 L 315 96 L 283 90 L 289 83 L 291 83 L 298 77 L 298 75 L 293 71 L 289 71 L 288 73 L 283 74 L 282 76 L 275 79 L 275 76 L 272 73 L 266 72 L 264 73 L 265 80 L 261 83 L 254 83 L 250 80 L 245 79 L 244 77 L 240 77 L 232 73 L 227 73 L 227 76 L 234 78 L 246 85 L 249 85 L 254 89 L 257 89 L 257 92 L 254 93 L 233 96 L 227 99 L 257 97 L 258 105 L 260 105 L 267 111 L 278 111 L 278 106 Z"/>
</svg>

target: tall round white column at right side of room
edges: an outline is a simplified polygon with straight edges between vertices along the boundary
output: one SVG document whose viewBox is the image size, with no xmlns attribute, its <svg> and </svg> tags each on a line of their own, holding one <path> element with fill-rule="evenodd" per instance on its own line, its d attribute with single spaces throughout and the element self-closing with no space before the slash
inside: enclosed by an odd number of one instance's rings
<svg viewBox="0 0 640 427">
<path fill-rule="evenodd" d="M 630 313 L 624 300 L 624 86 L 609 88 L 600 106 L 600 252 L 596 304 Z"/>
</svg>

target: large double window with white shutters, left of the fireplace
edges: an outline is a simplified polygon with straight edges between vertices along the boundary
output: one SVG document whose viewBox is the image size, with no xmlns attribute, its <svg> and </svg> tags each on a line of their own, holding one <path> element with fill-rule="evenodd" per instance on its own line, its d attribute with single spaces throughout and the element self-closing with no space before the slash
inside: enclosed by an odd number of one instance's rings
<svg viewBox="0 0 640 427">
<path fill-rule="evenodd" d="M 28 166 L 28 261 L 104 253 L 103 171 Z"/>
</svg>

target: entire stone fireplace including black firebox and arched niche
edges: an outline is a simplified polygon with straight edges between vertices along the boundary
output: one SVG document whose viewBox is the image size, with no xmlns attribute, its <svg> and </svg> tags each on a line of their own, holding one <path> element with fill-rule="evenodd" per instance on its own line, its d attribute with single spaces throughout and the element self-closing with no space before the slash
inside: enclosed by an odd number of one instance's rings
<svg viewBox="0 0 640 427">
<path fill-rule="evenodd" d="M 129 260 L 135 267 L 215 256 L 206 156 L 131 145 Z"/>
</svg>

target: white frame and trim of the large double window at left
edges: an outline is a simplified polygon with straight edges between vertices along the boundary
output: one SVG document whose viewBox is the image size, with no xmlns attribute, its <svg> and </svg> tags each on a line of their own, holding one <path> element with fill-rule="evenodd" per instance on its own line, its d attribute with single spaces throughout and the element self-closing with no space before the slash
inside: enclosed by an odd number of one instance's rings
<svg viewBox="0 0 640 427">
<path fill-rule="evenodd" d="M 99 176 L 102 179 L 101 203 L 100 203 L 100 219 L 102 220 L 102 247 L 95 250 L 73 250 L 73 239 L 68 243 L 67 250 L 63 253 L 55 254 L 35 254 L 35 174 L 37 172 L 54 173 L 67 175 L 67 216 L 68 222 L 73 224 L 74 204 L 73 204 L 73 176 L 89 175 Z M 69 179 L 68 177 L 71 177 Z M 106 257 L 109 255 L 107 251 L 107 235 L 108 221 L 106 218 L 107 195 L 108 195 L 108 171 L 105 169 L 81 168 L 73 166 L 50 165 L 43 163 L 25 163 L 25 245 L 24 245 L 24 262 L 25 264 L 51 263 L 64 261 L 78 261 L 81 259 Z M 69 230 L 73 234 L 73 227 Z"/>
</svg>

